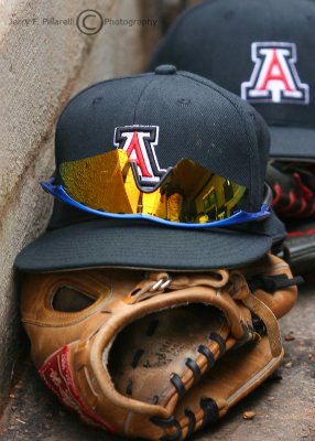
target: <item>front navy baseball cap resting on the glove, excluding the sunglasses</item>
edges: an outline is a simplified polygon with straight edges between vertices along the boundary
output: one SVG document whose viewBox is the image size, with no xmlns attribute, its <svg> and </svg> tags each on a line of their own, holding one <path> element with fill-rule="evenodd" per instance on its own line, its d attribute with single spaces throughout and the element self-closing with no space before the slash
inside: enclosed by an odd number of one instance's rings
<svg viewBox="0 0 315 441">
<path fill-rule="evenodd" d="M 269 154 L 263 119 L 233 94 L 171 65 L 96 84 L 69 101 L 56 128 L 56 181 L 61 164 L 111 152 L 123 137 L 134 140 L 134 133 L 149 140 L 144 148 L 154 153 L 159 172 L 183 158 L 193 160 L 246 186 L 243 208 L 260 209 Z M 15 266 L 34 272 L 232 268 L 262 257 L 284 237 L 273 214 L 236 227 L 189 229 L 104 218 L 55 200 L 46 233 L 20 252 Z"/>
</svg>

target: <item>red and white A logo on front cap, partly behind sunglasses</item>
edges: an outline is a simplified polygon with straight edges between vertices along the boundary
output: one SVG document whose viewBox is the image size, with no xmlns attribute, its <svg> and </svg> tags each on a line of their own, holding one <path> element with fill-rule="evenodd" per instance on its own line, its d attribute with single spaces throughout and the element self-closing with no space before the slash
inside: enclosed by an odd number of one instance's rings
<svg viewBox="0 0 315 441">
<path fill-rule="evenodd" d="M 126 126 L 115 129 L 113 143 L 123 149 L 131 163 L 138 186 L 153 190 L 159 186 L 166 169 L 160 169 L 155 147 L 159 142 L 159 126 Z"/>
</svg>

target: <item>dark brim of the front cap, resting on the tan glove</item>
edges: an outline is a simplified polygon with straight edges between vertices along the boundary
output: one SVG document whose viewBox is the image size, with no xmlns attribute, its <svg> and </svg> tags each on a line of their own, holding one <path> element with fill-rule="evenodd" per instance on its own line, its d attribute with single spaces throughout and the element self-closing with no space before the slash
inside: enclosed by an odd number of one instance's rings
<svg viewBox="0 0 315 441">
<path fill-rule="evenodd" d="M 45 233 L 25 247 L 15 267 L 50 272 L 98 267 L 200 271 L 236 268 L 261 258 L 283 239 L 272 214 L 248 232 L 152 227 L 148 222 L 94 219 Z M 253 230 L 254 229 L 254 230 Z"/>
</svg>

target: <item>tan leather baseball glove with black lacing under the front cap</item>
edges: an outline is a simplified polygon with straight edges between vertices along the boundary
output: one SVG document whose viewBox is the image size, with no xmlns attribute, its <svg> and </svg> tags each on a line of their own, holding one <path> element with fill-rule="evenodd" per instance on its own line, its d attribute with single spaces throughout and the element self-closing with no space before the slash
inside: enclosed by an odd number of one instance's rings
<svg viewBox="0 0 315 441">
<path fill-rule="evenodd" d="M 42 379 L 84 421 L 183 440 L 279 366 L 295 282 L 271 255 L 206 273 L 25 275 L 22 320 Z"/>
</svg>

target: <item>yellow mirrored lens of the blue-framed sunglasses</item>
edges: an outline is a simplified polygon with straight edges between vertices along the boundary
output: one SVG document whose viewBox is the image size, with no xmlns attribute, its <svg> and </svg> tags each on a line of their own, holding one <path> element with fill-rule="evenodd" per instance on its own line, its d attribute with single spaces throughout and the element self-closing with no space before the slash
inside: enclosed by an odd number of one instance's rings
<svg viewBox="0 0 315 441">
<path fill-rule="evenodd" d="M 68 194 L 108 213 L 142 213 L 172 222 L 206 223 L 230 217 L 246 187 L 183 159 L 162 185 L 151 192 L 137 186 L 127 152 L 117 149 L 59 169 Z"/>
</svg>

